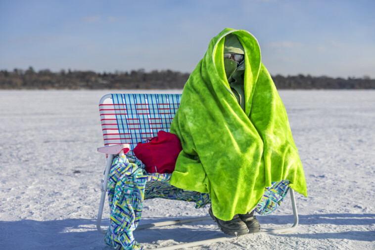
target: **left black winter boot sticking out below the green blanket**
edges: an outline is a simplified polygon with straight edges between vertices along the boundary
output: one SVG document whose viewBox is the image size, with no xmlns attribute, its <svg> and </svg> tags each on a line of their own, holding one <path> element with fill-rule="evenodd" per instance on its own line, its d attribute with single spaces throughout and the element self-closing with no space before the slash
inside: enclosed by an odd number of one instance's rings
<svg viewBox="0 0 375 250">
<path fill-rule="evenodd" d="M 246 224 L 241 221 L 237 214 L 234 215 L 233 219 L 231 220 L 221 220 L 214 216 L 211 207 L 208 209 L 208 213 L 210 214 L 211 218 L 216 222 L 216 224 L 218 224 L 221 231 L 223 231 L 225 234 L 240 236 L 247 234 L 249 231 L 247 229 Z"/>
</svg>

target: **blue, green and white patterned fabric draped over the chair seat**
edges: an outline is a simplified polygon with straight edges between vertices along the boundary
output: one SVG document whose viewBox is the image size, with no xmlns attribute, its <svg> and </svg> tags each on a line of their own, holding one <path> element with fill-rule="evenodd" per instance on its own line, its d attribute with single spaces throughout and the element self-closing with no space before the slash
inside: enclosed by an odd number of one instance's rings
<svg viewBox="0 0 375 250">
<path fill-rule="evenodd" d="M 147 173 L 135 156 L 116 156 L 108 175 L 110 225 L 104 242 L 119 249 L 142 249 L 133 231 L 141 220 L 143 200 L 164 198 L 194 202 L 195 208 L 211 203 L 207 193 L 184 190 L 169 184 L 171 174 Z M 273 182 L 265 188 L 255 211 L 268 214 L 277 209 L 288 191 L 288 181 Z"/>
</svg>

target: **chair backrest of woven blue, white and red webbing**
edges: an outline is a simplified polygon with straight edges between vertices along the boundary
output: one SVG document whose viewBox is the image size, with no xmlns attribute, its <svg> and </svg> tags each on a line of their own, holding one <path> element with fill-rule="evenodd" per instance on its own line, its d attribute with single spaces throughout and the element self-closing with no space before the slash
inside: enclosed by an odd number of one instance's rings
<svg viewBox="0 0 375 250">
<path fill-rule="evenodd" d="M 128 143 L 133 152 L 159 130 L 169 132 L 180 100 L 181 94 L 104 95 L 99 103 L 104 146 Z"/>
</svg>

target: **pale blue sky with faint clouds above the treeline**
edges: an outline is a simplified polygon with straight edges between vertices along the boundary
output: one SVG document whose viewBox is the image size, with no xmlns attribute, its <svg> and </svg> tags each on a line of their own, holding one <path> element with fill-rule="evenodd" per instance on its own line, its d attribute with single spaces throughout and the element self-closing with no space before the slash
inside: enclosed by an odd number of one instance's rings
<svg viewBox="0 0 375 250">
<path fill-rule="evenodd" d="M 0 69 L 190 73 L 227 27 L 272 75 L 375 78 L 375 0 L 0 0 Z"/>
</svg>

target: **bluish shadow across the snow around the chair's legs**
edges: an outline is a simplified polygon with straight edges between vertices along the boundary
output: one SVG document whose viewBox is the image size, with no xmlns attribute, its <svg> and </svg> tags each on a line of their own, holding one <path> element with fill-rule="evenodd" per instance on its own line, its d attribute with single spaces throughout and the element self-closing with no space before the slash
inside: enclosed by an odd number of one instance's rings
<svg viewBox="0 0 375 250">
<path fill-rule="evenodd" d="M 168 219 L 181 219 L 181 217 Z M 167 218 L 145 217 L 141 224 L 168 220 Z M 265 215 L 258 216 L 264 228 L 290 226 L 292 215 Z M 372 225 L 375 223 L 375 214 L 365 213 L 331 213 L 299 215 L 300 225 Z M 96 231 L 94 219 L 64 219 L 64 220 L 19 220 L 0 221 L 1 245 L 19 249 L 110 249 L 103 242 L 104 235 Z M 108 219 L 103 220 L 108 225 Z M 139 243 L 151 243 L 159 240 L 174 240 L 176 242 L 201 241 L 216 237 L 225 237 L 213 221 L 202 221 L 176 225 L 173 228 L 152 228 L 134 232 Z M 375 231 L 345 231 L 298 234 L 280 234 L 281 237 L 296 237 L 309 239 L 347 239 L 358 241 L 373 241 Z M 246 237 L 246 236 L 245 236 Z"/>
</svg>

